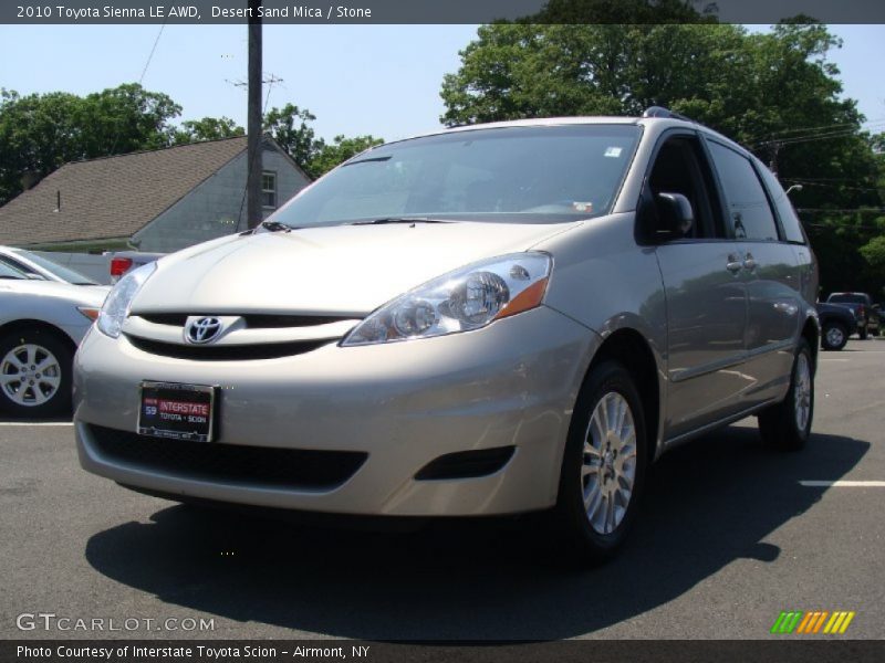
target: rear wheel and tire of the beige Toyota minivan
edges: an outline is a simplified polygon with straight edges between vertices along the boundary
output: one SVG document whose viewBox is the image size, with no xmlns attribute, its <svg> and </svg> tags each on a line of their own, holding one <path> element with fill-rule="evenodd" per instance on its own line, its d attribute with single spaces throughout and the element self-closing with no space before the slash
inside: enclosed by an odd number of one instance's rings
<svg viewBox="0 0 885 663">
<path fill-rule="evenodd" d="M 759 433 L 772 449 L 799 451 L 808 442 L 813 418 L 814 361 L 808 341 L 802 339 L 793 359 L 787 398 L 759 413 Z"/>
</svg>

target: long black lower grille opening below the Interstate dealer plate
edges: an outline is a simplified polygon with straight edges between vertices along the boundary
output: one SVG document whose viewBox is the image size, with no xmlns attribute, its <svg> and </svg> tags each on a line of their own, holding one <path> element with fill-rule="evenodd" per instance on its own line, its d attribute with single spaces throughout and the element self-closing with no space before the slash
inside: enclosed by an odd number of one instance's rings
<svg viewBox="0 0 885 663">
<path fill-rule="evenodd" d="M 331 490 L 351 478 L 368 457 L 356 451 L 275 449 L 149 438 L 90 425 L 111 461 L 185 478 L 248 483 L 290 490 Z"/>
</svg>

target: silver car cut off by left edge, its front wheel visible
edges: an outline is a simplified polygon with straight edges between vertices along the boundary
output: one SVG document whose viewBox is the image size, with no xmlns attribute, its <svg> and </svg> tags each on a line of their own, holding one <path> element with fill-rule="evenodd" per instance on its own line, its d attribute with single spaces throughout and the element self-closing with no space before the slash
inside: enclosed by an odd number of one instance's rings
<svg viewBox="0 0 885 663">
<path fill-rule="evenodd" d="M 0 263 L 0 412 L 40 418 L 70 411 L 74 351 L 108 290 L 46 281 Z"/>
</svg>

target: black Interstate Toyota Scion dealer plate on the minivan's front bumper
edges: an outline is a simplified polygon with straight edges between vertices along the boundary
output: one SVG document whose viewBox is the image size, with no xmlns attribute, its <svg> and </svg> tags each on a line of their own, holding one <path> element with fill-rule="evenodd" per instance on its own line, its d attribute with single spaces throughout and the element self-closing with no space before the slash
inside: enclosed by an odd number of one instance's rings
<svg viewBox="0 0 885 663">
<path fill-rule="evenodd" d="M 144 380 L 138 388 L 139 435 L 212 442 L 218 387 Z"/>
</svg>

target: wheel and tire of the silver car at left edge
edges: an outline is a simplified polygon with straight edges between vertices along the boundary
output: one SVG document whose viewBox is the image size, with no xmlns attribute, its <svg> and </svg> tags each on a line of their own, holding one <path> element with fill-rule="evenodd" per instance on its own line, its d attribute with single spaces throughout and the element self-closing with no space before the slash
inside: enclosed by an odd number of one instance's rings
<svg viewBox="0 0 885 663">
<path fill-rule="evenodd" d="M 73 350 L 45 329 L 0 338 L 0 411 L 20 418 L 71 412 Z"/>
</svg>

